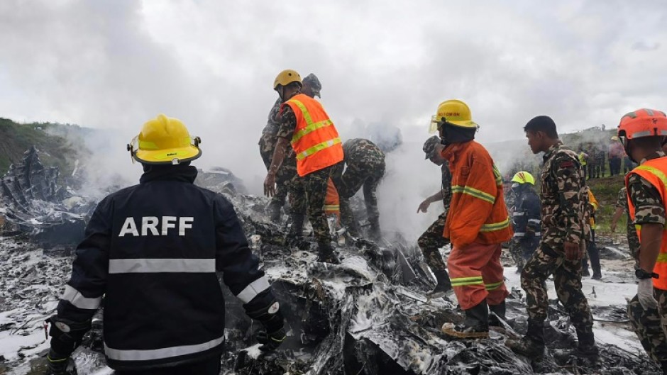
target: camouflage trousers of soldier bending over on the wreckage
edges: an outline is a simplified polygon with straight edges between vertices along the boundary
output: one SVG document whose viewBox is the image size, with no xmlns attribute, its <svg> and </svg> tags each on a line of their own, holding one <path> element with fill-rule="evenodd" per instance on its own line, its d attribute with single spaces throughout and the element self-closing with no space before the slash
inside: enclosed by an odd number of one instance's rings
<svg viewBox="0 0 667 375">
<path fill-rule="evenodd" d="M 341 204 L 341 221 L 346 228 L 355 227 L 354 214 L 350 207 L 350 198 L 363 186 L 363 200 L 366 206 L 368 221 L 377 222 L 380 211 L 377 210 L 377 185 L 385 176 L 385 162 L 363 164 L 363 167 L 348 164 L 343 172 L 343 163 L 336 165 L 333 172 L 333 184 L 336 185 Z"/>
</svg>

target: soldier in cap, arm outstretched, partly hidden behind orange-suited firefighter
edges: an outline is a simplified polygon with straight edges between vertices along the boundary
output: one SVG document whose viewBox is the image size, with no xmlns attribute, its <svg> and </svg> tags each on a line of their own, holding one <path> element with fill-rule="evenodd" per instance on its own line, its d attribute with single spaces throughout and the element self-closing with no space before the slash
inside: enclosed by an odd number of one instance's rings
<svg viewBox="0 0 667 375">
<path fill-rule="evenodd" d="M 451 172 L 449 172 L 449 163 L 441 155 L 441 152 L 438 152 L 440 148 L 441 140 L 440 137 L 434 135 L 424 142 L 424 154 L 426 154 L 426 159 L 431 160 L 433 164 L 441 166 L 442 172 L 442 186 L 440 191 L 429 198 L 424 199 L 419 208 L 417 208 L 417 213 L 419 211 L 426 212 L 431 206 L 431 203 L 437 201 L 442 201 L 444 211 L 438 216 L 426 232 L 424 232 L 417 240 L 417 245 L 421 249 L 421 252 L 424 254 L 424 259 L 426 259 L 426 264 L 429 264 L 431 271 L 436 276 L 438 284 L 435 289 L 429 292 L 430 296 L 438 296 L 447 291 L 451 290 L 451 281 L 449 279 L 449 274 L 447 273 L 447 266 L 445 261 L 440 253 L 441 247 L 449 245 L 449 239 L 443 237 L 443 232 L 445 230 L 445 223 L 447 221 L 447 212 L 449 211 L 449 203 L 451 201 Z"/>
</svg>

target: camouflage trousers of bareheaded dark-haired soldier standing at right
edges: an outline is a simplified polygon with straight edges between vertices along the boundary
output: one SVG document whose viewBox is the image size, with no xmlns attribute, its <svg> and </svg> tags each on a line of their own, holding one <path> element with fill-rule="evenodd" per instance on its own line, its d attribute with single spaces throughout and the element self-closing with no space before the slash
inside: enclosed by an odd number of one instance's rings
<svg viewBox="0 0 667 375">
<path fill-rule="evenodd" d="M 580 245 L 585 247 L 585 242 Z M 553 249 L 544 242 L 540 243 L 521 273 L 521 286 L 526 291 L 529 318 L 536 321 L 546 320 L 549 299 L 545 281 L 551 274 L 558 300 L 566 307 L 573 325 L 579 330 L 592 330 L 590 307 L 581 291 L 581 261 L 566 259 L 562 248 Z"/>
</svg>

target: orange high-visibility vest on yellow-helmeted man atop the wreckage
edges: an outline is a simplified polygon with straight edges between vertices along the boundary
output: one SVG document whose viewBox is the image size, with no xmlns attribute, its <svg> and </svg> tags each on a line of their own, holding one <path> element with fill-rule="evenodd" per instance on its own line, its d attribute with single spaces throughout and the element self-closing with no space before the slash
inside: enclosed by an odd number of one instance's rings
<svg viewBox="0 0 667 375">
<path fill-rule="evenodd" d="M 336 127 L 319 101 L 297 94 L 282 105 L 290 106 L 297 117 L 297 128 L 291 142 L 294 154 L 297 155 L 297 173 L 300 177 L 343 160 L 341 138 L 338 138 Z"/>
</svg>

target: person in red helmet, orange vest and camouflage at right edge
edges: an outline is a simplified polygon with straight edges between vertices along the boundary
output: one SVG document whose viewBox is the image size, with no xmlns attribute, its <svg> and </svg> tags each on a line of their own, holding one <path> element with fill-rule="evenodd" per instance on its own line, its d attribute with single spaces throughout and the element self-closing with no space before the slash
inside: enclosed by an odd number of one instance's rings
<svg viewBox="0 0 667 375">
<path fill-rule="evenodd" d="M 639 162 L 626 177 L 627 195 L 619 202 L 628 208 L 634 220 L 634 235 L 639 240 L 629 243 L 636 260 L 635 276 L 639 279 L 637 295 L 628 304 L 628 316 L 641 345 L 667 374 L 667 289 L 663 278 L 667 206 L 664 201 L 666 155 L 662 145 L 667 132 L 667 116 L 661 111 L 642 108 L 621 119 L 618 135 L 627 155 Z M 617 213 L 620 210 L 617 209 Z M 614 219 L 617 220 L 614 215 Z M 632 216 L 631 216 L 632 217 Z M 614 220 L 614 227 L 615 227 Z M 639 232 L 641 228 L 641 233 Z M 630 229 L 630 228 L 628 228 Z M 634 236 L 633 236 L 634 237 Z M 628 242 L 631 236 L 628 236 Z M 632 240 L 634 242 L 634 240 Z"/>
</svg>

